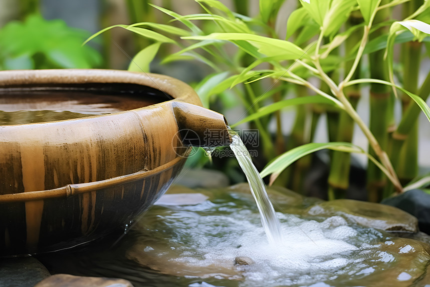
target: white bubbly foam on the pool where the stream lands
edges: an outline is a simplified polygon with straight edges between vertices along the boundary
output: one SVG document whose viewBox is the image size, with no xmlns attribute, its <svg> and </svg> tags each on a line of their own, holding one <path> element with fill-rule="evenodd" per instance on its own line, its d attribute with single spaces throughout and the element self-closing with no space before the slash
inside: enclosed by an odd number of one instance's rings
<svg viewBox="0 0 430 287">
<path fill-rule="evenodd" d="M 371 233 L 358 234 L 340 216 L 317 222 L 277 213 L 283 241 L 280 244 L 270 244 L 264 236 L 258 214 L 240 209 L 231 212 L 234 208 L 228 206 L 224 209 L 226 214 L 223 215 L 213 215 L 207 211 L 179 211 L 164 217 L 169 224 L 176 224 L 172 228 L 181 238 L 170 242 L 171 247 L 176 248 L 175 251 L 182 250 L 170 260 L 181 263 L 190 270 L 218 266 L 214 269 L 225 268 L 224 270 L 235 270 L 240 274 L 233 276 L 219 271 L 192 277 L 240 277 L 239 286 L 259 286 L 261 282 L 265 286 L 308 286 L 309 283 L 334 279 L 342 272 L 348 272 L 350 264 L 363 260 L 350 254 L 372 248 L 373 245 L 366 242 L 377 237 L 377 234 Z M 178 217 L 181 217 L 180 224 Z M 367 238 L 363 237 L 361 239 L 364 241 L 359 242 L 357 238 L 360 236 Z M 186 244 L 176 245 L 179 241 L 183 242 L 183 238 L 187 238 Z M 233 265 L 237 256 L 249 257 L 253 263 Z M 361 272 L 370 272 L 368 267 L 362 266 Z"/>
</svg>

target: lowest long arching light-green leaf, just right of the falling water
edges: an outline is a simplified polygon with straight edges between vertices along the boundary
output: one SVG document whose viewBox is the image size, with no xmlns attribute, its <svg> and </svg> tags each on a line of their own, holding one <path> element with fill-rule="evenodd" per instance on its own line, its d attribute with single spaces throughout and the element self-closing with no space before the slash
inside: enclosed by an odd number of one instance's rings
<svg viewBox="0 0 430 287">
<path fill-rule="evenodd" d="M 273 159 L 270 163 L 268 163 L 264 169 L 260 172 L 260 176 L 264 177 L 269 174 L 280 174 L 286 167 L 288 167 L 291 163 L 296 161 L 297 159 L 308 155 L 310 153 L 313 153 L 318 150 L 322 149 L 331 149 L 331 150 L 338 150 L 338 151 L 344 151 L 344 152 L 357 152 L 357 153 L 364 153 L 364 151 L 347 142 L 331 142 L 331 143 L 308 143 L 301 146 L 298 146 L 296 148 L 293 148 L 275 159 Z M 273 182 L 275 179 L 270 177 L 270 181 Z"/>
</svg>

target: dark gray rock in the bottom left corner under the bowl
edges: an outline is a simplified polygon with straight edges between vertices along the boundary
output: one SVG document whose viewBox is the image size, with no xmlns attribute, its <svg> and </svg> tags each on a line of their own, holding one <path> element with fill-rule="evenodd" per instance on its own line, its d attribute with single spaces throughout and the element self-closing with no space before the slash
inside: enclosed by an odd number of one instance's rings
<svg viewBox="0 0 430 287">
<path fill-rule="evenodd" d="M 0 286 L 33 286 L 49 276 L 49 271 L 34 257 L 0 259 Z"/>
</svg>

